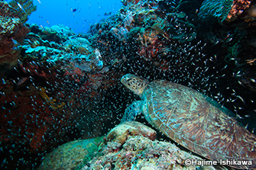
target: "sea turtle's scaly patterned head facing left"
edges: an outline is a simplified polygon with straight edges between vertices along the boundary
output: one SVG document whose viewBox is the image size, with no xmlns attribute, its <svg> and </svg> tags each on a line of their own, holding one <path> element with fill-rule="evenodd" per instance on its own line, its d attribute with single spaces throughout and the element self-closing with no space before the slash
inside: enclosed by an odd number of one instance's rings
<svg viewBox="0 0 256 170">
<path fill-rule="evenodd" d="M 141 96 L 144 88 L 148 85 L 148 80 L 137 75 L 127 74 L 122 76 L 121 82 L 136 95 Z"/>
</svg>

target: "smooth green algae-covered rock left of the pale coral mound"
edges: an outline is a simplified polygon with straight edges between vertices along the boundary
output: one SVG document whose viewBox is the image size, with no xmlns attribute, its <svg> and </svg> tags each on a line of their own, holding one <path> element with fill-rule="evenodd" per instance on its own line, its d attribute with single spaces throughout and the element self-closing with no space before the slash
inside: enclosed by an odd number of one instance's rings
<svg viewBox="0 0 256 170">
<path fill-rule="evenodd" d="M 102 137 L 65 143 L 45 156 L 38 170 L 76 169 L 96 155 Z"/>
</svg>

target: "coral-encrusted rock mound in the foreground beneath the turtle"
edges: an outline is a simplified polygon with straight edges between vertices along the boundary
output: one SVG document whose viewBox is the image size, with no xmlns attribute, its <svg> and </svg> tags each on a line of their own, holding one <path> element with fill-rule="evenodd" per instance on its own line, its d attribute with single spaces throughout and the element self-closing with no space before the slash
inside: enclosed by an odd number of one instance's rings
<svg viewBox="0 0 256 170">
<path fill-rule="evenodd" d="M 186 166 L 186 159 L 203 159 L 172 143 L 154 140 L 155 135 L 142 123 L 125 122 L 106 137 L 74 140 L 57 147 L 38 169 L 215 169 L 211 165 Z"/>
</svg>

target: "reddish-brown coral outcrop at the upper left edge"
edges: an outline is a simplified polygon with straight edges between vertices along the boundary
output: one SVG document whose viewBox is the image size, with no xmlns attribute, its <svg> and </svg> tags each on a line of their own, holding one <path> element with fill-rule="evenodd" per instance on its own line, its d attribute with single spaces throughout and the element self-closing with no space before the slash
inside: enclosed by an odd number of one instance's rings
<svg viewBox="0 0 256 170">
<path fill-rule="evenodd" d="M 5 69 L 10 70 L 17 63 L 20 57 L 18 45 L 24 40 L 29 29 L 7 2 L 0 2 L 0 7 L 0 74 L 5 75 Z"/>
</svg>

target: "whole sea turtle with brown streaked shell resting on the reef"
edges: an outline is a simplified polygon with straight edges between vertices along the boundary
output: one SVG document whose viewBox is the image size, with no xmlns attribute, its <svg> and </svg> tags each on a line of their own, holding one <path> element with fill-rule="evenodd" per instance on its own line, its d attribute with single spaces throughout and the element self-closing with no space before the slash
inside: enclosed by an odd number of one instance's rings
<svg viewBox="0 0 256 170">
<path fill-rule="evenodd" d="M 216 101 L 165 80 L 149 82 L 128 74 L 121 82 L 141 97 L 127 107 L 122 121 L 142 112 L 153 127 L 200 156 L 234 168 L 256 168 L 256 136 Z"/>
</svg>

